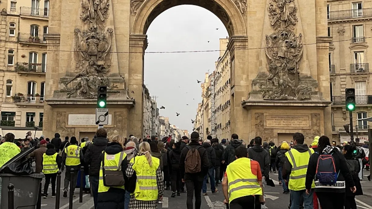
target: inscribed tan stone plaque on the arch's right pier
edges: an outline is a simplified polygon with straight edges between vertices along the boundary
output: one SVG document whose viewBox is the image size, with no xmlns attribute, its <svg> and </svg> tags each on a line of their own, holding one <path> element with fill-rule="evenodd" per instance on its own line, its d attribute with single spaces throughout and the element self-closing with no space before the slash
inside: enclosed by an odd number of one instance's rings
<svg viewBox="0 0 372 209">
<path fill-rule="evenodd" d="M 309 127 L 308 115 L 266 115 L 266 126 L 269 127 Z"/>
</svg>

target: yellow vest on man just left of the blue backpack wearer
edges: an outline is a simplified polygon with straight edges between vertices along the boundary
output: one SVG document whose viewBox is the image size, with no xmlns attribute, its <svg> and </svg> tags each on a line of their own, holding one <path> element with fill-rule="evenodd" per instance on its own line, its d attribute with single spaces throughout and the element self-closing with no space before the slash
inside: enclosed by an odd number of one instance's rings
<svg viewBox="0 0 372 209">
<path fill-rule="evenodd" d="M 298 191 L 305 189 L 306 171 L 309 164 L 310 156 L 314 153 L 314 149 L 309 148 L 307 152 L 299 152 L 296 149 L 291 149 L 285 153 L 289 163 L 292 165 L 291 175 L 289 175 L 288 188 Z M 315 188 L 314 180 L 311 188 Z"/>
</svg>

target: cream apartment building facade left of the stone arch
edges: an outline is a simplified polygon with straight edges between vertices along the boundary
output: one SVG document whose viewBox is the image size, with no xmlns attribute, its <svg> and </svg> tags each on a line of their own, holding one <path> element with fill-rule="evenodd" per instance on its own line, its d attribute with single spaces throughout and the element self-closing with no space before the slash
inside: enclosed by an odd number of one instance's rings
<svg viewBox="0 0 372 209">
<path fill-rule="evenodd" d="M 41 135 L 49 0 L 3 0 L 0 8 L 0 127 L 24 137 L 38 126 Z"/>
</svg>

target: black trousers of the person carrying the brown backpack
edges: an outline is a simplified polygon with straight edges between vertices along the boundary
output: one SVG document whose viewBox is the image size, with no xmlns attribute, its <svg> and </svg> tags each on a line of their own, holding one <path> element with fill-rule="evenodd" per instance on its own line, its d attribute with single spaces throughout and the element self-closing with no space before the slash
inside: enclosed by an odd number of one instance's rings
<svg viewBox="0 0 372 209">
<path fill-rule="evenodd" d="M 187 190 L 187 209 L 193 209 L 193 197 L 195 194 L 195 209 L 200 209 L 202 205 L 202 186 L 203 181 L 199 181 L 198 178 L 186 179 L 186 190 Z"/>
</svg>

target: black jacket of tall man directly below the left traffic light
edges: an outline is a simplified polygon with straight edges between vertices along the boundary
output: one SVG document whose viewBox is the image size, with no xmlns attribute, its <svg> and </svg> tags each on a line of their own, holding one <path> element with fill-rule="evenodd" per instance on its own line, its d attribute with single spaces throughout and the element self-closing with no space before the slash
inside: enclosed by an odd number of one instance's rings
<svg viewBox="0 0 372 209">
<path fill-rule="evenodd" d="M 99 169 L 101 167 L 101 161 L 99 156 L 102 151 L 106 149 L 108 145 L 108 140 L 106 138 L 96 138 L 94 139 L 94 144 L 90 144 L 84 155 L 84 163 L 89 166 L 89 176 L 99 176 Z"/>
</svg>

